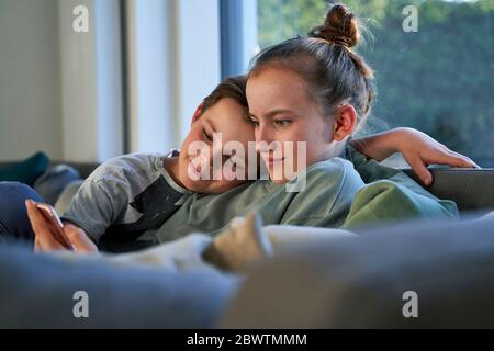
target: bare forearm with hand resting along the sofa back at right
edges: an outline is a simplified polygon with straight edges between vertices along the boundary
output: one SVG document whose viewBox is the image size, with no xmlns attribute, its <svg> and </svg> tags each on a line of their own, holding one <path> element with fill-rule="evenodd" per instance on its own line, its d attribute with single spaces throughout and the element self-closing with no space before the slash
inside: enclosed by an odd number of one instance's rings
<svg viewBox="0 0 494 351">
<path fill-rule="evenodd" d="M 350 145 L 377 161 L 382 161 L 394 152 L 402 152 L 406 162 L 426 185 L 433 181 L 433 177 L 427 170 L 428 165 L 439 163 L 459 168 L 479 167 L 470 158 L 451 151 L 428 135 L 413 128 L 395 128 L 352 139 Z"/>
</svg>

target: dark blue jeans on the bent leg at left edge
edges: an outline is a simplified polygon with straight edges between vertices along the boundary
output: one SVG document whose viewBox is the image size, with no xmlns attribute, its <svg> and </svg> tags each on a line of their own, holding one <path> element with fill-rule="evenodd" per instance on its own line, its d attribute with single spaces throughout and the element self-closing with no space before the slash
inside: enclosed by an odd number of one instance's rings
<svg viewBox="0 0 494 351">
<path fill-rule="evenodd" d="M 0 182 L 0 241 L 24 240 L 34 242 L 25 200 L 44 202 L 29 185 L 18 182 Z"/>
</svg>

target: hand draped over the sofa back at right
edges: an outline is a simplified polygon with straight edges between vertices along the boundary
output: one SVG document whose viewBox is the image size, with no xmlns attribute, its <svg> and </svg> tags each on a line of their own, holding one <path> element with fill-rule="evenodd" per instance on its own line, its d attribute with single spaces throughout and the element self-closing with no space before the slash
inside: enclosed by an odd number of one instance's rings
<svg viewBox="0 0 494 351">
<path fill-rule="evenodd" d="M 414 172 L 425 185 L 433 183 L 433 176 L 427 169 L 428 165 L 448 165 L 458 168 L 480 168 L 467 156 L 454 152 L 445 145 L 436 141 L 427 134 L 413 128 L 400 128 L 396 135 L 397 151 L 412 167 Z"/>
</svg>

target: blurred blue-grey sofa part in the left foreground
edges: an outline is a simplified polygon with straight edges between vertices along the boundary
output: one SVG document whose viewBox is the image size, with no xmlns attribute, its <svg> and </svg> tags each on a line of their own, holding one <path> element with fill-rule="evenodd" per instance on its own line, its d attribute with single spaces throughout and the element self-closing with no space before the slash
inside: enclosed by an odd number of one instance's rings
<svg viewBox="0 0 494 351">
<path fill-rule="evenodd" d="M 207 267 L 75 263 L 19 246 L 0 246 L 0 328 L 211 328 L 238 284 Z M 79 291 L 87 318 L 74 314 Z"/>
</svg>

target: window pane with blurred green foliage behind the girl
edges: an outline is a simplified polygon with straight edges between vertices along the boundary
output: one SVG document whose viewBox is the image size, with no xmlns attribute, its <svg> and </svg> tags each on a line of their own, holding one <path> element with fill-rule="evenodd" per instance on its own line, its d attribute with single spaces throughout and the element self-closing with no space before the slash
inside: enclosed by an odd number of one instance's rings
<svg viewBox="0 0 494 351">
<path fill-rule="evenodd" d="M 345 3 L 372 33 L 358 48 L 379 93 L 366 132 L 415 127 L 494 167 L 494 1 Z M 408 4 L 418 10 L 416 33 L 402 27 Z M 324 0 L 258 0 L 260 46 L 304 35 L 326 9 Z"/>
</svg>

